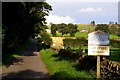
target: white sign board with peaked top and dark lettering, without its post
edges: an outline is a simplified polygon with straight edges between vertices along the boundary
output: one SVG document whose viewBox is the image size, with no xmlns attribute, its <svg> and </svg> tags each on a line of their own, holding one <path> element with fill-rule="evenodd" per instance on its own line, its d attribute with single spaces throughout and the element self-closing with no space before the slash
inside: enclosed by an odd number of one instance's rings
<svg viewBox="0 0 120 80">
<path fill-rule="evenodd" d="M 109 35 L 98 30 L 88 34 L 88 55 L 109 56 Z"/>
</svg>

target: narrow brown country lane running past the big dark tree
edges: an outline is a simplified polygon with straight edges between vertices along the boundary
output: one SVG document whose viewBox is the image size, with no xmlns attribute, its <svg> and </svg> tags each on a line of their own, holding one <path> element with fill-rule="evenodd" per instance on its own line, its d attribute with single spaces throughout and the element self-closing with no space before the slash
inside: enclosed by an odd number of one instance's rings
<svg viewBox="0 0 120 80">
<path fill-rule="evenodd" d="M 37 55 L 34 55 L 36 53 Z M 24 78 L 26 80 L 48 79 L 48 71 L 42 62 L 39 52 L 37 52 L 36 41 L 33 40 L 32 45 L 24 52 L 20 58 L 21 62 L 17 62 L 9 67 L 3 66 L 2 77 L 6 78 Z M 22 80 L 22 79 L 21 79 Z"/>
</svg>

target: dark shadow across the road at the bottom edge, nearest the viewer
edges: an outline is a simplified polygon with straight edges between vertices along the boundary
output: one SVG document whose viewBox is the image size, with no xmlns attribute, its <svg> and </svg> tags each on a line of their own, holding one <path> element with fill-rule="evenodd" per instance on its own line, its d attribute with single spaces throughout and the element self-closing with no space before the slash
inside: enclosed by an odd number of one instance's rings
<svg viewBox="0 0 120 80">
<path fill-rule="evenodd" d="M 43 72 L 24 70 L 3 74 L 2 80 L 49 80 L 49 77 Z"/>
</svg>

